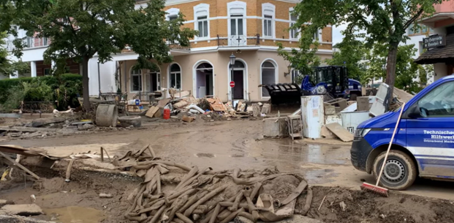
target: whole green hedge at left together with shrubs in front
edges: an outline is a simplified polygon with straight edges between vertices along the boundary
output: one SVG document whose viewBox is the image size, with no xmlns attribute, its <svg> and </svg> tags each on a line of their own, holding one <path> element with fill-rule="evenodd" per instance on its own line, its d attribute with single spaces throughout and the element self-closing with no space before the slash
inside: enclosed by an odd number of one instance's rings
<svg viewBox="0 0 454 223">
<path fill-rule="evenodd" d="M 78 95 L 82 95 L 82 76 L 78 74 L 0 81 L 0 104 L 5 111 L 18 109 L 21 101 L 56 101 L 55 108 L 65 110 L 79 106 Z"/>
</svg>

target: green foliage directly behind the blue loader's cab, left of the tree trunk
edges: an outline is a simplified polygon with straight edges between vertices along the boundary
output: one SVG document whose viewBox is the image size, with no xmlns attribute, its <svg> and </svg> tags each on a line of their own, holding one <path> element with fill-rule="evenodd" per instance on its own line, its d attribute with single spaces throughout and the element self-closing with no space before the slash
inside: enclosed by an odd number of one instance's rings
<svg viewBox="0 0 454 223">
<path fill-rule="evenodd" d="M 350 40 L 338 43 L 335 46 L 339 49 L 338 52 L 333 53 L 332 59 L 326 59 L 328 65 L 346 66 L 348 70 L 348 77 L 358 80 L 361 84 L 365 85 L 364 75 L 365 67 L 365 53 L 366 48 L 362 41 Z"/>
</svg>

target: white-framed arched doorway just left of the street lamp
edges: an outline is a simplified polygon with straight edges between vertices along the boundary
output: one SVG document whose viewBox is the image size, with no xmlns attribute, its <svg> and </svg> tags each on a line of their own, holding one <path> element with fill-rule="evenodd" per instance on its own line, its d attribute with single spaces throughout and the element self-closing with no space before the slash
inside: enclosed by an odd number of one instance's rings
<svg viewBox="0 0 454 223">
<path fill-rule="evenodd" d="M 213 66 L 211 64 L 202 62 L 197 65 L 194 73 L 194 81 L 196 98 L 214 95 Z"/>
</svg>

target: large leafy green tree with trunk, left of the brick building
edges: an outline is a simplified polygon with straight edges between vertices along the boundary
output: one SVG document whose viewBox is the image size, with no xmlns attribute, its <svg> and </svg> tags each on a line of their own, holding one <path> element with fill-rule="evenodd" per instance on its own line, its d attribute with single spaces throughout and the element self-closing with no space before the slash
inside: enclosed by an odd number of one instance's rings
<svg viewBox="0 0 454 223">
<path fill-rule="evenodd" d="M 89 109 L 88 62 L 112 59 L 126 47 L 139 54 L 138 65 L 153 67 L 171 62 L 169 42 L 188 46 L 196 32 L 180 29 L 183 17 L 168 21 L 165 0 L 150 0 L 147 7 L 134 9 L 135 0 L 0 0 L 0 28 L 16 24 L 28 36 L 47 37 L 51 43 L 44 53 L 46 62 L 67 58 L 82 63 L 84 109 Z M 9 29 L 10 33 L 16 34 Z M 19 40 L 15 43 L 20 57 Z M 57 66 L 60 66 L 57 63 Z M 64 63 L 63 63 L 64 64 Z M 58 68 L 57 68 L 58 69 Z"/>
</svg>

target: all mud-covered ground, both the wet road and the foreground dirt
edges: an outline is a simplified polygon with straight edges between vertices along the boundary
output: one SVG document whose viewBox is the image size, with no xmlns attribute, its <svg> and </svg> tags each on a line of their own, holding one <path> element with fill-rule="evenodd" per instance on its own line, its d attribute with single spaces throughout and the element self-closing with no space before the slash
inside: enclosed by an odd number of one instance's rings
<svg viewBox="0 0 454 223">
<path fill-rule="evenodd" d="M 454 222 L 452 182 L 419 179 L 409 190 L 391 192 L 390 197 L 382 198 L 359 190 L 361 180 L 372 182 L 373 179 L 351 166 L 350 145 L 333 140 L 263 139 L 261 133 L 261 120 L 145 121 L 143 128 L 135 130 L 14 140 L 1 144 L 52 148 L 62 153 L 74 149 L 99 149 L 103 144 L 122 153 L 150 143 L 163 160 L 188 166 L 210 166 L 214 170 L 276 167 L 281 172 L 300 173 L 309 185 L 314 186 L 314 199 L 308 216 L 327 223 Z M 125 221 L 121 217 L 121 212 L 127 208 L 123 198 L 137 185 L 138 179 L 106 174 L 96 177 L 84 172 L 73 174 L 77 180 L 64 183 L 63 178 L 56 178 L 40 191 L 23 182 L 14 185 L 2 182 L 6 187 L 0 192 L 0 198 L 25 204 L 30 203 L 30 195 L 34 194 L 37 196 L 36 204 L 47 214 L 44 217 L 58 218 L 63 223 L 72 221 L 67 219 L 68 216 L 85 216 L 80 213 L 91 216 L 84 219 L 84 223 L 102 219 L 104 222 Z M 47 178 L 60 176 L 64 177 L 55 173 L 46 175 Z M 114 198 L 101 199 L 97 196 L 99 193 L 111 193 Z M 318 210 L 324 196 L 326 199 Z M 341 208 L 342 201 L 345 210 Z"/>
</svg>

